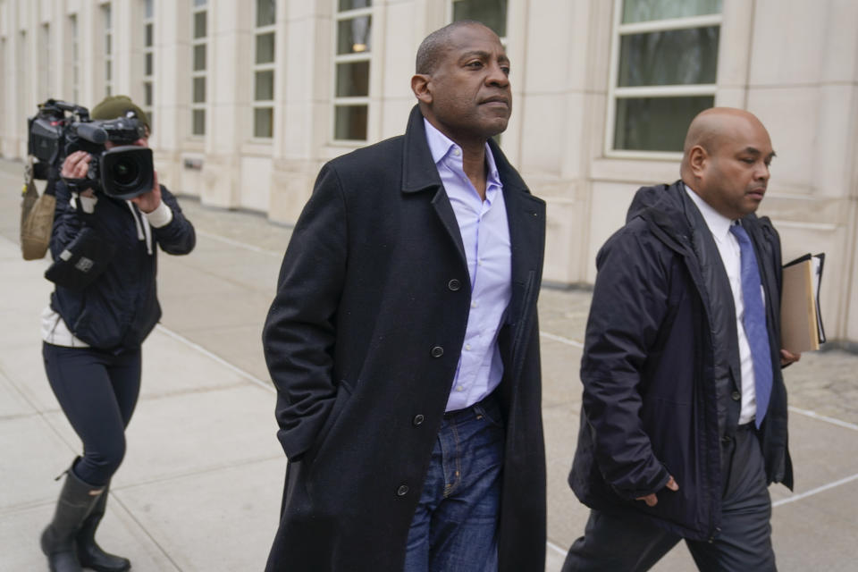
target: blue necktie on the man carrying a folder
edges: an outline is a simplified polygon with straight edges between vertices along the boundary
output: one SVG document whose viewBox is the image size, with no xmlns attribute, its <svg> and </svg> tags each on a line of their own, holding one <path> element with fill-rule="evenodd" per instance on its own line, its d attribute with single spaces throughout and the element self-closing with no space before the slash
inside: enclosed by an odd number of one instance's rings
<svg viewBox="0 0 858 572">
<path fill-rule="evenodd" d="M 756 425 L 760 428 L 762 418 L 766 416 L 771 397 L 771 350 L 769 331 L 766 329 L 766 310 L 762 305 L 760 290 L 760 268 L 748 233 L 740 224 L 730 226 L 730 232 L 739 241 L 742 254 L 742 299 L 744 301 L 744 335 L 751 347 L 753 360 L 754 391 L 757 400 Z"/>
</svg>

